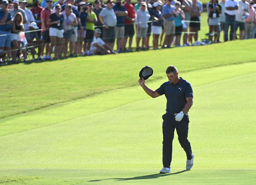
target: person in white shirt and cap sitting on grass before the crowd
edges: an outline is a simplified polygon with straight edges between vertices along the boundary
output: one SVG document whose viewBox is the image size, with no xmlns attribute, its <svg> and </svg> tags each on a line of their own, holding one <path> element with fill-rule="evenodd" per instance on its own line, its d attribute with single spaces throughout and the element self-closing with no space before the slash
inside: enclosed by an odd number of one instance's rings
<svg viewBox="0 0 256 185">
<path fill-rule="evenodd" d="M 117 54 L 116 52 L 111 51 L 111 47 L 100 38 L 100 35 L 101 30 L 96 28 L 90 51 L 93 52 L 94 55 Z"/>
</svg>

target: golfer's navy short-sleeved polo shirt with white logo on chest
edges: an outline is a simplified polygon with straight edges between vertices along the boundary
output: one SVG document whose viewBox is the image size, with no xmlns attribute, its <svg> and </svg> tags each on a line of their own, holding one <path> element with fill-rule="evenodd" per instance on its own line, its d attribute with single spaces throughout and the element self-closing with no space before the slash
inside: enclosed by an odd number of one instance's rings
<svg viewBox="0 0 256 185">
<path fill-rule="evenodd" d="M 179 113 L 182 111 L 187 102 L 186 98 L 193 97 L 191 84 L 181 77 L 176 85 L 170 81 L 166 81 L 156 90 L 156 92 L 159 95 L 164 94 L 166 96 L 166 111 L 169 111 L 170 113 Z"/>
</svg>

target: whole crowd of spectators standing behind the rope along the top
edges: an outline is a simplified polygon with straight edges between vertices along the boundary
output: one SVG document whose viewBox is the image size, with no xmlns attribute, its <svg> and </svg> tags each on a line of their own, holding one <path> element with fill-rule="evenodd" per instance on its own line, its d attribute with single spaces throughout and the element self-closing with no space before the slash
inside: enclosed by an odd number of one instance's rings
<svg viewBox="0 0 256 185">
<path fill-rule="evenodd" d="M 135 34 L 136 51 L 150 49 L 151 34 L 153 49 L 196 45 L 203 12 L 199 0 L 137 0 L 135 5 L 131 0 L 33 0 L 31 9 L 27 5 L 0 0 L 2 65 L 26 62 L 29 52 L 32 61 L 52 60 L 53 52 L 54 59 L 68 57 L 68 50 L 70 57 L 132 52 Z M 256 0 L 210 0 L 209 43 L 220 42 L 221 32 L 224 41 L 255 38 L 255 7 Z"/>
</svg>

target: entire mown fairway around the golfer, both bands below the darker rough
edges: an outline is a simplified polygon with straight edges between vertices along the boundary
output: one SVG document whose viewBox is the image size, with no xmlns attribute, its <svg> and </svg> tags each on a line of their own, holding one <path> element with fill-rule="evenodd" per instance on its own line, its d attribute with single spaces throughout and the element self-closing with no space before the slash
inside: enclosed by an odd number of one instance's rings
<svg viewBox="0 0 256 185">
<path fill-rule="evenodd" d="M 149 87 L 167 80 L 166 64 L 155 66 Z M 0 119 L 0 183 L 254 184 L 256 63 L 179 65 L 195 95 L 191 171 L 184 171 L 186 155 L 175 135 L 172 173 L 158 173 L 166 99 L 145 95 L 131 72 L 131 87 Z"/>
</svg>

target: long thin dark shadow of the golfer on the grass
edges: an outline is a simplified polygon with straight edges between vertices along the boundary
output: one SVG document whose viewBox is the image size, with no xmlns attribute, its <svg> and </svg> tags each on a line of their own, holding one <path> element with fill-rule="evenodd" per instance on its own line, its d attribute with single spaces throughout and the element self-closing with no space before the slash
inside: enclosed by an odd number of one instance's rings
<svg viewBox="0 0 256 185">
<path fill-rule="evenodd" d="M 130 177 L 130 178 L 111 178 L 111 179 L 116 179 L 116 181 L 140 180 L 140 179 L 157 179 L 157 178 L 162 177 L 162 176 L 175 175 L 175 174 L 183 173 L 183 172 L 186 172 L 186 171 L 187 171 L 187 170 L 178 171 L 178 172 L 176 172 L 176 173 L 165 173 L 165 174 L 156 173 L 156 174 L 152 174 L 152 175 L 134 176 L 134 177 Z M 88 181 L 88 182 L 99 182 L 99 181 L 102 181 L 102 180 L 110 180 L 110 179 L 90 180 L 90 181 Z"/>
</svg>

